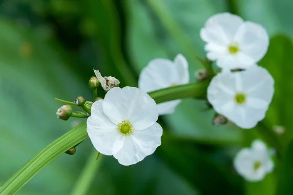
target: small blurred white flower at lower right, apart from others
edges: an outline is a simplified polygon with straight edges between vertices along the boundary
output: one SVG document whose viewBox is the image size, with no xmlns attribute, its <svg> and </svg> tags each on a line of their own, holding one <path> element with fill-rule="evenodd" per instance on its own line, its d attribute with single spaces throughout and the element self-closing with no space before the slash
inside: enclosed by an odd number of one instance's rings
<svg viewBox="0 0 293 195">
<path fill-rule="evenodd" d="M 236 155 L 234 167 L 246 180 L 255 182 L 271 173 L 274 163 L 266 145 L 260 140 L 254 140 L 251 148 L 243 148 Z"/>
</svg>

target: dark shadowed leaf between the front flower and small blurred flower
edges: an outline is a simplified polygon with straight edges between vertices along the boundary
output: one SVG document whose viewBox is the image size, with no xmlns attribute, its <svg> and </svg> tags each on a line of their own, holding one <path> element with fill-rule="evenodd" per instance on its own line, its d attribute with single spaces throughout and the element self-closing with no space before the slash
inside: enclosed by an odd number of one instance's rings
<svg viewBox="0 0 293 195">
<path fill-rule="evenodd" d="M 232 173 L 230 157 L 219 149 L 170 140 L 165 133 L 157 150 L 163 161 L 200 194 L 242 194 L 240 179 Z"/>
</svg>

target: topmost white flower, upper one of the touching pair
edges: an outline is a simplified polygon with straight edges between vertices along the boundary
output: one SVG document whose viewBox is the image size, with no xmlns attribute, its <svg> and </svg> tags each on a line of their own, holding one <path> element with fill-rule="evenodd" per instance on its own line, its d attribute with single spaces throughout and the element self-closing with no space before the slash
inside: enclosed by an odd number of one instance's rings
<svg viewBox="0 0 293 195">
<path fill-rule="evenodd" d="M 207 58 L 220 68 L 246 69 L 264 57 L 269 46 L 265 28 L 230 13 L 210 17 L 200 31 Z"/>
</svg>

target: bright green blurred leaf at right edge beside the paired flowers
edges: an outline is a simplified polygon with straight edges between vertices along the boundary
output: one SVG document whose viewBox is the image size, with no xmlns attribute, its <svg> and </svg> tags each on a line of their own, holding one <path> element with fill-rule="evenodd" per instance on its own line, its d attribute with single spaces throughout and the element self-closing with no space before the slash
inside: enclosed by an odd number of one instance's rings
<svg viewBox="0 0 293 195">
<path fill-rule="evenodd" d="M 293 137 L 292 115 L 293 107 L 293 45 L 291 39 L 278 35 L 270 40 L 269 50 L 266 56 L 259 62 L 265 67 L 275 80 L 274 96 L 272 103 L 266 114 L 266 119 L 270 122 L 268 126 L 273 129 L 273 125 L 285 127 L 283 135 L 276 135 L 281 139 L 281 143 L 286 146 Z"/>
</svg>

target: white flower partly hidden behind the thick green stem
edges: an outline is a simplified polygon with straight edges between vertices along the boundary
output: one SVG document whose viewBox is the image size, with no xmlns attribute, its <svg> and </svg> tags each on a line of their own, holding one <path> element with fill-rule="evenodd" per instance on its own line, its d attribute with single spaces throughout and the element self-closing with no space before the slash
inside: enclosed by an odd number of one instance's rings
<svg viewBox="0 0 293 195">
<path fill-rule="evenodd" d="M 146 92 L 189 82 L 188 62 L 178 54 L 174 62 L 169 59 L 153 59 L 142 70 L 138 87 Z M 159 115 L 172 114 L 181 99 L 158 104 Z"/>
</svg>

